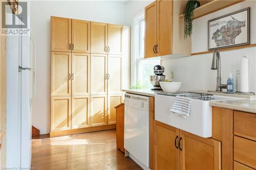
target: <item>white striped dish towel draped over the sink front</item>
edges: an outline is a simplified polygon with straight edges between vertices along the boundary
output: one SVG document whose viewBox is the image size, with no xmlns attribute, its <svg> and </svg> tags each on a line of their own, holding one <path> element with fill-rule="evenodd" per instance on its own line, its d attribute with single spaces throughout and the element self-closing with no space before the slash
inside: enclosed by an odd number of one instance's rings
<svg viewBox="0 0 256 170">
<path fill-rule="evenodd" d="M 174 98 L 170 113 L 178 114 L 184 118 L 189 116 L 191 106 L 191 99 L 176 96 Z"/>
</svg>

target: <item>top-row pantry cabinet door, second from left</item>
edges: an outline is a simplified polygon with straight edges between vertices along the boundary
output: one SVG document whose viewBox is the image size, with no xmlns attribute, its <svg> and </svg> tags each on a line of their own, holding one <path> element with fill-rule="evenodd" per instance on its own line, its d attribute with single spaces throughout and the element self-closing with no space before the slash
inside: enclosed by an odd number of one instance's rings
<svg viewBox="0 0 256 170">
<path fill-rule="evenodd" d="M 90 53 L 90 21 L 72 19 L 72 52 Z"/>
</svg>

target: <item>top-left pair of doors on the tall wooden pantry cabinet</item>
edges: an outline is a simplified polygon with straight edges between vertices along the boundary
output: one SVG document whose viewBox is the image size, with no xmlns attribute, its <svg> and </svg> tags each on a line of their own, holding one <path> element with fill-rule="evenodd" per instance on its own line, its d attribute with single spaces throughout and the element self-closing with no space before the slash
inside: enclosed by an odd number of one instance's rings
<svg viewBox="0 0 256 170">
<path fill-rule="evenodd" d="M 90 53 L 90 21 L 51 17 L 51 51 Z"/>
</svg>

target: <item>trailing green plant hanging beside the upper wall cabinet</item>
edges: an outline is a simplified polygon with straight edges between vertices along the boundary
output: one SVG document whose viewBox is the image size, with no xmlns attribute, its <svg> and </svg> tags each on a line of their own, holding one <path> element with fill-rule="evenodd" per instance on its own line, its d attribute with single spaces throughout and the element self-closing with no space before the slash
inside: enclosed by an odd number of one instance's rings
<svg viewBox="0 0 256 170">
<path fill-rule="evenodd" d="M 193 30 L 194 10 L 200 7 L 200 2 L 188 0 L 184 11 L 184 37 L 191 36 Z"/>
</svg>

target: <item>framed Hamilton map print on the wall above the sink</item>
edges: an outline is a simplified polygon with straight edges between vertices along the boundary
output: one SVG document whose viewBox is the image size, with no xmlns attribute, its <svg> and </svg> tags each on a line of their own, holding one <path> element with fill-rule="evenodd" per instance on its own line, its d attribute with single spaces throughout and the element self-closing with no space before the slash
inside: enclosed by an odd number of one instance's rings
<svg viewBox="0 0 256 170">
<path fill-rule="evenodd" d="M 250 44 L 250 8 L 208 20 L 208 50 Z"/>
</svg>

